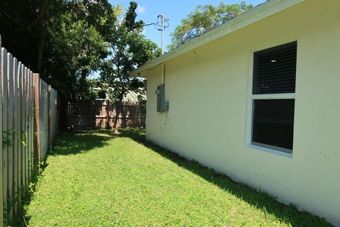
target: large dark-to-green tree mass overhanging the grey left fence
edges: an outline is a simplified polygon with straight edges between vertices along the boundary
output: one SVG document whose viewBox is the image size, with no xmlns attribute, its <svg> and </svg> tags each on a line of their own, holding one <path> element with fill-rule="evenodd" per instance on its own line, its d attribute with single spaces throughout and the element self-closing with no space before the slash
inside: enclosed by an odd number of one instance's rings
<svg viewBox="0 0 340 227">
<path fill-rule="evenodd" d="M 107 0 L 1 0 L 3 44 L 64 99 L 88 99 L 86 77 L 108 55 Z"/>
</svg>

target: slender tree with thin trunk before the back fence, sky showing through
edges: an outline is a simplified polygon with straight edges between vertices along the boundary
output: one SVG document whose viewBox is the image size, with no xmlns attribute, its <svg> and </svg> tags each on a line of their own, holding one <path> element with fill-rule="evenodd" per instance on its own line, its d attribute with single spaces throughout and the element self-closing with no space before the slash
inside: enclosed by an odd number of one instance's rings
<svg viewBox="0 0 340 227">
<path fill-rule="evenodd" d="M 136 9 L 137 3 L 130 2 L 123 18 L 111 27 L 108 41 L 110 54 L 101 65 L 101 81 L 115 104 L 116 117 L 113 127 L 116 132 L 124 97 L 130 91 L 141 93 L 145 88 L 145 81 L 130 77 L 128 73 L 161 53 L 156 43 L 142 35 L 144 22 L 136 21 Z"/>
</svg>

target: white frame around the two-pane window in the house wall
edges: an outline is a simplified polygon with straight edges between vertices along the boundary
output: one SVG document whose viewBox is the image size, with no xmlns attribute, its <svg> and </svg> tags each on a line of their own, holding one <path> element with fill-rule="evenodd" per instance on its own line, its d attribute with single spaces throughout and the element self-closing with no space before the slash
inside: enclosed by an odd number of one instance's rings
<svg viewBox="0 0 340 227">
<path fill-rule="evenodd" d="M 281 155 L 284 157 L 293 158 L 293 150 L 280 148 L 273 145 L 267 145 L 263 143 L 253 142 L 253 119 L 254 119 L 254 100 L 259 99 L 294 99 L 295 93 L 283 93 L 283 94 L 253 94 L 253 81 L 254 81 L 254 53 L 266 50 L 268 48 L 275 48 L 278 45 L 283 45 L 285 43 L 294 42 L 297 40 L 288 40 L 279 44 L 273 44 L 261 48 L 257 48 L 256 50 L 252 50 L 249 52 L 249 111 L 248 111 L 248 124 L 246 130 L 246 146 L 248 148 L 252 148 L 254 150 L 265 151 L 267 153 L 272 153 L 275 155 Z M 295 118 L 295 113 L 294 113 Z"/>
</svg>

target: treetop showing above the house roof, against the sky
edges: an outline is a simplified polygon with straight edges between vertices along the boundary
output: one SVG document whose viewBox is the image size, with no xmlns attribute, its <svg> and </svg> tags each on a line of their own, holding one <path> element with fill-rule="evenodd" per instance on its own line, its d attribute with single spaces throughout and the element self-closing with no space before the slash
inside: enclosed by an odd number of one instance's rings
<svg viewBox="0 0 340 227">
<path fill-rule="evenodd" d="M 239 16 L 239 14 L 248 11 L 252 7 L 252 5 L 247 5 L 244 1 L 233 5 L 226 5 L 221 2 L 218 7 L 212 5 L 197 6 L 193 12 L 181 21 L 181 25 L 177 26 L 175 31 L 171 33 L 171 44 L 167 48 L 169 50 L 177 48 L 189 40 Z"/>
</svg>

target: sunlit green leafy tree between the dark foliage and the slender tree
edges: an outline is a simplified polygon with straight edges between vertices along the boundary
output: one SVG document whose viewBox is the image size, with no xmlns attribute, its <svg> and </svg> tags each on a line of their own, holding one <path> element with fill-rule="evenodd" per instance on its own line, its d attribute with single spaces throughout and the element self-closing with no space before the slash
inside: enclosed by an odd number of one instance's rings
<svg viewBox="0 0 340 227">
<path fill-rule="evenodd" d="M 86 78 L 108 55 L 115 21 L 107 0 L 66 1 L 60 16 L 50 21 L 42 75 L 64 99 L 91 99 Z"/>
</svg>

